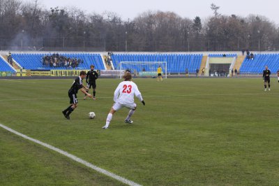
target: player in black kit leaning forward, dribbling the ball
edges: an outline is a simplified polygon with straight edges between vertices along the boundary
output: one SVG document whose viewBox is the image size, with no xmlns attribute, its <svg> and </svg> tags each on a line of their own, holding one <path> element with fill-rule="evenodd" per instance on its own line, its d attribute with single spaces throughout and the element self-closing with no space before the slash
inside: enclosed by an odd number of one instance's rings
<svg viewBox="0 0 279 186">
<path fill-rule="evenodd" d="M 85 77 L 86 77 L 86 72 L 85 71 L 81 71 L 80 72 L 80 76 L 75 78 L 72 87 L 70 87 L 70 90 L 68 91 L 68 96 L 70 98 L 70 106 L 62 111 L 63 115 L 68 120 L 70 120 L 70 113 L 72 113 L 73 110 L 75 110 L 75 108 L 77 108 L 77 92 L 78 92 L 78 90 L 80 90 L 81 92 L 83 92 L 84 94 L 86 94 L 87 96 L 89 96 L 91 98 L 93 97 L 91 94 L 88 94 L 86 92 L 87 87 L 82 85 L 82 80 Z"/>
</svg>

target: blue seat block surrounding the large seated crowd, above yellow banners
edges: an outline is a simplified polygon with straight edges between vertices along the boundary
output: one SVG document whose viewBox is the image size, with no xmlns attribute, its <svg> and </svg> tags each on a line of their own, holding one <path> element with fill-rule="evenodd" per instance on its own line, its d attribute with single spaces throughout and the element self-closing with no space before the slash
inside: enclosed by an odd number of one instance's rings
<svg viewBox="0 0 279 186">
<path fill-rule="evenodd" d="M 43 66 L 42 58 L 46 55 L 52 54 L 13 54 L 13 59 L 20 64 L 24 69 L 31 70 L 50 70 L 50 69 L 66 69 L 66 67 L 50 67 Z M 89 69 L 89 66 L 93 64 L 95 69 L 105 70 L 105 66 L 102 61 L 102 57 L 99 54 L 87 54 L 87 53 L 77 53 L 77 54 L 59 54 L 64 57 L 81 59 L 83 63 L 79 64 L 77 69 Z"/>
</svg>

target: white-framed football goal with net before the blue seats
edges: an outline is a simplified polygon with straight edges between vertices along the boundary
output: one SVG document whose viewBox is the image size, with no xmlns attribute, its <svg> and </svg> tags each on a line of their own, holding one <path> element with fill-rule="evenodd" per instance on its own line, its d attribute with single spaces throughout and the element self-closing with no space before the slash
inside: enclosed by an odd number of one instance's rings
<svg viewBox="0 0 279 186">
<path fill-rule="evenodd" d="M 130 70 L 135 78 L 154 78 L 158 76 L 159 66 L 162 68 L 162 77 L 167 78 L 167 62 L 120 62 L 119 78 L 126 70 Z"/>
</svg>

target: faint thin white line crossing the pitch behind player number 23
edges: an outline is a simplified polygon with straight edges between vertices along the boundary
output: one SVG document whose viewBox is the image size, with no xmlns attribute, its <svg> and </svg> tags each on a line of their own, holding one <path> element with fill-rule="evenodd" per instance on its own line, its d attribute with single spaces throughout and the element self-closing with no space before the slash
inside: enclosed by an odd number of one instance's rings
<svg viewBox="0 0 279 186">
<path fill-rule="evenodd" d="M 153 97 L 190 97 L 190 96 L 254 96 L 254 95 L 266 95 L 266 94 L 274 94 L 277 95 L 279 93 L 243 93 L 243 94 L 181 94 L 181 95 L 154 95 L 154 96 L 143 96 L 144 98 L 153 98 Z M 30 99 L 0 99 L 0 101 L 32 101 L 32 100 L 61 100 L 61 98 L 30 98 Z M 81 98 L 82 99 L 82 98 Z M 110 97 L 97 97 L 97 99 L 112 99 Z"/>
</svg>

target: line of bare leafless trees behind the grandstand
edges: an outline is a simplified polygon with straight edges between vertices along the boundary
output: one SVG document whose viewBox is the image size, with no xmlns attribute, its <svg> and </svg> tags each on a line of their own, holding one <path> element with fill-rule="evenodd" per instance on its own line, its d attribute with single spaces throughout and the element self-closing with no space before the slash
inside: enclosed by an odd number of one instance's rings
<svg viewBox="0 0 279 186">
<path fill-rule="evenodd" d="M 116 13 L 50 8 L 38 0 L 0 0 L 1 50 L 236 51 L 278 50 L 279 28 L 262 15 L 213 15 L 191 20 L 146 11 L 133 20 Z"/>
</svg>

